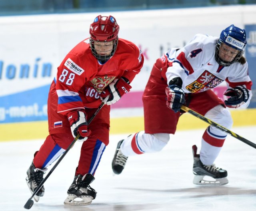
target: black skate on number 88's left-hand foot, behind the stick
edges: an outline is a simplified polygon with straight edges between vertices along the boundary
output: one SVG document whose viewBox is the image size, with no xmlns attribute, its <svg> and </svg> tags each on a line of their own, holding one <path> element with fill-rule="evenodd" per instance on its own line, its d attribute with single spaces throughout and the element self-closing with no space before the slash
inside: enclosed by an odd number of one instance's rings
<svg viewBox="0 0 256 211">
<path fill-rule="evenodd" d="M 38 169 L 34 166 L 34 163 L 30 165 L 27 171 L 28 177 L 26 177 L 26 182 L 28 184 L 28 187 L 31 191 L 31 193 L 34 193 L 35 189 L 40 185 L 40 183 L 44 179 L 44 173 L 46 172 L 45 169 Z M 44 186 L 40 188 L 40 190 L 34 195 L 34 199 L 36 202 L 39 201 L 39 198 L 44 195 Z"/>
</svg>

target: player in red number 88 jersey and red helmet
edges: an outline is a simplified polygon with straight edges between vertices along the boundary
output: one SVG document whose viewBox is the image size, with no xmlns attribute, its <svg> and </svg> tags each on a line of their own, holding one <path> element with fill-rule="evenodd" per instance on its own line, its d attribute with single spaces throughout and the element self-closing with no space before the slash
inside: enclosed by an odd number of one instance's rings
<svg viewBox="0 0 256 211">
<path fill-rule="evenodd" d="M 113 16 L 97 16 L 90 25 L 90 38 L 78 43 L 58 67 L 48 96 L 49 135 L 27 171 L 32 192 L 43 180 L 46 168 L 80 134 L 79 141 L 84 142 L 64 204 L 88 205 L 95 199 L 90 183 L 109 142 L 110 105 L 130 91 L 144 61 L 132 42 L 118 38 L 118 31 Z M 87 125 L 107 96 L 106 105 Z M 43 195 L 42 186 L 34 199 L 38 201 Z"/>
</svg>

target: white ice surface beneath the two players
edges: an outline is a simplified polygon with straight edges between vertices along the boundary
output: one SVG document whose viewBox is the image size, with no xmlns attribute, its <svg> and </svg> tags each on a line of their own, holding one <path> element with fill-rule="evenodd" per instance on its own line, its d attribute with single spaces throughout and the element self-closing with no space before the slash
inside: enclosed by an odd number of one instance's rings
<svg viewBox="0 0 256 211">
<path fill-rule="evenodd" d="M 232 128 L 256 143 L 256 126 Z M 77 142 L 44 183 L 45 195 L 31 211 L 253 211 L 256 209 L 256 149 L 228 135 L 216 166 L 228 171 L 229 183 L 201 187 L 192 183 L 192 145 L 200 149 L 204 130 L 177 131 L 158 153 L 129 157 L 121 175 L 112 175 L 117 142 L 111 135 L 92 188 L 97 197 L 88 206 L 63 201 L 73 181 L 80 154 Z M 128 134 L 127 134 L 128 135 Z M 0 142 L 0 211 L 22 211 L 31 193 L 25 178 L 33 154 L 44 140 Z M 52 164 L 52 166 L 55 163 Z M 48 173 L 49 171 L 47 171 Z"/>
</svg>

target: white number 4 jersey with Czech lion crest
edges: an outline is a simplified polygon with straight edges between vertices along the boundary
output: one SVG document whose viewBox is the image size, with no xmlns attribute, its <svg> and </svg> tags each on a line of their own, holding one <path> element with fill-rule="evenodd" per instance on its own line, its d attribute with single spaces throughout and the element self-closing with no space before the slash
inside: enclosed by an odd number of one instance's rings
<svg viewBox="0 0 256 211">
<path fill-rule="evenodd" d="M 215 49 L 218 38 L 196 34 L 180 50 L 171 49 L 166 53 L 172 66 L 166 72 L 167 83 L 176 77 L 182 79 L 185 93 L 198 93 L 210 90 L 226 80 L 229 88 L 245 86 L 250 93 L 248 106 L 252 97 L 252 82 L 248 76 L 248 64 L 235 62 L 228 67 L 221 66 L 215 60 Z"/>
</svg>

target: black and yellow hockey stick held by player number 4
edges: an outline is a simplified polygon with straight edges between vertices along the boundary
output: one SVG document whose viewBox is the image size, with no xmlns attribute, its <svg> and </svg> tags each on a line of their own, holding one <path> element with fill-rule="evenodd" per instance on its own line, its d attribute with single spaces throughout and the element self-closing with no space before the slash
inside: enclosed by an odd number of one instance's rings
<svg viewBox="0 0 256 211">
<path fill-rule="evenodd" d="M 216 122 L 214 122 L 214 121 L 208 119 L 207 117 L 205 117 L 205 116 L 203 116 L 203 115 L 201 115 L 201 114 L 199 114 L 199 113 L 196 113 L 196 111 L 193 111 L 192 109 L 190 109 L 190 108 L 188 108 L 188 107 L 186 107 L 186 106 L 181 106 L 181 109 L 182 109 L 183 111 L 186 111 L 186 112 L 188 112 L 188 113 L 194 115 L 195 117 L 198 117 L 199 119 L 205 121 L 206 123 L 208 123 L 208 124 L 210 124 L 210 125 L 212 125 L 212 126 L 218 128 L 218 129 L 220 129 L 221 131 L 224 131 L 224 132 L 230 134 L 231 136 L 235 137 L 236 139 L 238 139 L 238 140 L 240 140 L 240 141 L 242 141 L 242 142 L 244 142 L 244 143 L 246 143 L 246 144 L 248 144 L 248 145 L 250 145 L 251 147 L 254 147 L 254 148 L 256 149 L 256 144 L 255 144 L 255 143 L 253 143 L 253 142 L 251 142 L 251 141 L 245 139 L 244 137 L 242 137 L 242 136 L 240 136 L 240 135 L 238 135 L 238 134 L 236 134 L 236 133 L 230 131 L 229 129 L 226 129 L 225 127 L 223 127 L 223 126 L 217 124 Z"/>
</svg>

